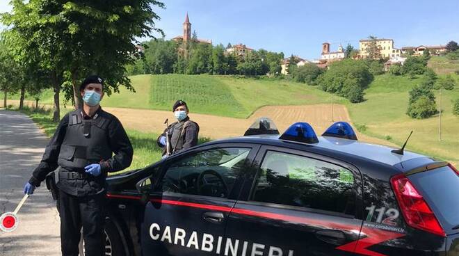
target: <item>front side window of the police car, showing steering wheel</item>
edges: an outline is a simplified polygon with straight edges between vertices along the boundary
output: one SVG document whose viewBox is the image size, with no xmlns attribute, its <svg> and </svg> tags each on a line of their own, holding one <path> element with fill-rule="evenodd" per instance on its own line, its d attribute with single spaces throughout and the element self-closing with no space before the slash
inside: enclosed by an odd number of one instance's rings
<svg viewBox="0 0 459 256">
<path fill-rule="evenodd" d="M 173 162 L 161 180 L 163 192 L 226 198 L 243 171 L 250 148 L 203 150 Z"/>
</svg>

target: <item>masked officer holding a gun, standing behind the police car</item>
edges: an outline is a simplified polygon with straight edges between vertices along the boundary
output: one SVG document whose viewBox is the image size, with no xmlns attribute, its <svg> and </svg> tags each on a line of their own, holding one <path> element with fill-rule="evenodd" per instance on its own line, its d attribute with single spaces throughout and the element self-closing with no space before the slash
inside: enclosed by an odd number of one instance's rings
<svg viewBox="0 0 459 256">
<path fill-rule="evenodd" d="M 163 157 L 167 157 L 167 134 L 170 141 L 170 154 L 175 154 L 198 145 L 199 125 L 188 117 L 189 109 L 186 102 L 177 100 L 174 106 L 172 106 L 172 111 L 175 118 L 177 118 L 177 122 L 169 125 L 157 139 L 158 145 L 163 147 Z"/>
</svg>

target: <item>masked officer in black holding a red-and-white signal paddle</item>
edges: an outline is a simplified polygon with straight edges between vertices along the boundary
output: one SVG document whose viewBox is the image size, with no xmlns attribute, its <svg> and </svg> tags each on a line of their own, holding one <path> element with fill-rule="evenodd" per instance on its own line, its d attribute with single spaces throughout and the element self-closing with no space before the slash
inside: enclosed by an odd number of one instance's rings
<svg viewBox="0 0 459 256">
<path fill-rule="evenodd" d="M 24 193 L 31 194 L 48 173 L 60 169 L 57 187 L 63 255 L 79 254 L 81 227 L 86 256 L 104 255 L 106 176 L 129 167 L 132 161 L 132 145 L 120 120 L 99 105 L 103 86 L 98 76 L 81 83 L 83 109 L 64 116 L 24 187 Z"/>
</svg>

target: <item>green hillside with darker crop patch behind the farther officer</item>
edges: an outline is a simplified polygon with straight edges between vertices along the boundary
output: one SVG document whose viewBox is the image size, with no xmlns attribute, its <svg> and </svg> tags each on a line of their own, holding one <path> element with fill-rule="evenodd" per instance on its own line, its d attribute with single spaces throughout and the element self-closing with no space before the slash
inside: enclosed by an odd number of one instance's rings
<svg viewBox="0 0 459 256">
<path fill-rule="evenodd" d="M 187 102 L 194 113 L 247 118 L 261 106 L 329 103 L 331 95 L 304 83 L 271 79 L 243 79 L 229 76 L 138 75 L 130 77 L 136 93 L 120 88 L 106 95 L 103 106 L 171 111 L 177 99 Z M 11 96 L 18 99 L 18 95 Z M 61 96 L 62 98 L 62 96 Z M 27 99 L 31 99 L 27 97 Z M 335 102 L 346 100 L 335 97 Z M 52 104 L 46 90 L 40 104 Z"/>
</svg>

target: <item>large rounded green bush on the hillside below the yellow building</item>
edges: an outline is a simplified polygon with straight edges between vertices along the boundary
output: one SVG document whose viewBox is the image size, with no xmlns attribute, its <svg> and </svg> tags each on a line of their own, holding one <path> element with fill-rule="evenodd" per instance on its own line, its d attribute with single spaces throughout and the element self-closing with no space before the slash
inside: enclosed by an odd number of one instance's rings
<svg viewBox="0 0 459 256">
<path fill-rule="evenodd" d="M 348 98 L 351 102 L 363 101 L 363 90 L 373 80 L 373 74 L 363 61 L 346 59 L 330 65 L 327 72 L 321 74 L 317 83 L 328 93 Z"/>
</svg>

